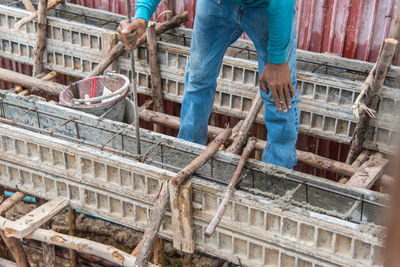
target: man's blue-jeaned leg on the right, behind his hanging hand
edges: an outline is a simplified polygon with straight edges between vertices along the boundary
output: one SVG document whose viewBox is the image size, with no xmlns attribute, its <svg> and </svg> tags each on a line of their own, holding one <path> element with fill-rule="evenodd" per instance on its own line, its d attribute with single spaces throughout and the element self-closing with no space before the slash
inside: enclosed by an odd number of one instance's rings
<svg viewBox="0 0 400 267">
<path fill-rule="evenodd" d="M 295 12 L 295 10 L 293 10 Z M 284 18 L 283 18 L 284 19 Z M 287 50 L 287 64 L 289 65 L 293 87 L 296 90 L 296 18 L 293 17 L 292 34 Z M 268 18 L 265 7 L 243 7 L 240 25 L 253 41 L 258 52 L 259 74 L 267 64 Z M 261 90 L 261 89 L 260 89 Z M 267 126 L 267 144 L 264 148 L 262 160 L 264 162 L 293 168 L 297 163 L 296 141 L 299 130 L 298 93 L 292 99 L 292 108 L 285 113 L 276 108 L 271 92 L 266 94 L 261 90 L 265 104 L 264 120 Z"/>
</svg>

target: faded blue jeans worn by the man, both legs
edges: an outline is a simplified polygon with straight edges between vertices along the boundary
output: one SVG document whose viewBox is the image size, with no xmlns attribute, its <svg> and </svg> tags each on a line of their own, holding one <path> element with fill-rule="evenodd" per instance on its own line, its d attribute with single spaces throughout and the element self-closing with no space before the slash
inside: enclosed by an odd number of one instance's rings
<svg viewBox="0 0 400 267">
<path fill-rule="evenodd" d="M 222 1 L 221 1 L 222 2 Z M 293 11 L 295 12 L 295 10 Z M 284 19 L 284 18 L 282 18 Z M 198 0 L 190 58 L 186 66 L 185 93 L 181 111 L 179 138 L 205 145 L 208 119 L 214 103 L 216 79 L 226 49 L 244 32 L 253 41 L 258 53 L 261 74 L 267 64 L 268 17 L 265 6 L 249 7 L 218 0 Z M 287 50 L 293 87 L 296 90 L 296 25 L 293 17 L 292 35 Z M 299 127 L 298 94 L 287 113 L 279 111 L 271 96 L 261 91 L 265 105 L 267 144 L 264 162 L 293 168 L 297 162 L 296 140 Z"/>
</svg>

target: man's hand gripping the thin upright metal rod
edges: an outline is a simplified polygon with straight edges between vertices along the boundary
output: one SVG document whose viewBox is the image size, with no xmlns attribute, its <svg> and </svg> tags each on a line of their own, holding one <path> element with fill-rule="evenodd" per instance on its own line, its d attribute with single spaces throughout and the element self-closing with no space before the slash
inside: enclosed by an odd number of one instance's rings
<svg viewBox="0 0 400 267">
<path fill-rule="evenodd" d="M 146 20 L 133 19 L 131 23 L 123 20 L 119 23 L 118 37 L 125 44 L 127 50 L 132 50 L 136 46 L 138 40 L 146 32 Z M 132 43 L 132 40 L 134 42 Z"/>
</svg>

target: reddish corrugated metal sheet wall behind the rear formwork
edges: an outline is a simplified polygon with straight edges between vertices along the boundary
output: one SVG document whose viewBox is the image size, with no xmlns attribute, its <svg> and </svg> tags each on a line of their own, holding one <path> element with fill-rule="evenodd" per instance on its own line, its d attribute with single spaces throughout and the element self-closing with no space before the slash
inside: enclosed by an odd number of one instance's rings
<svg viewBox="0 0 400 267">
<path fill-rule="evenodd" d="M 125 0 L 69 2 L 126 14 Z M 298 48 L 374 62 L 394 23 L 399 3 L 398 0 L 298 0 Z M 195 6 L 196 0 L 176 0 L 176 12 L 189 12 L 187 27 L 193 26 Z M 165 9 L 166 1 L 163 0 L 153 19 Z M 163 19 L 164 16 L 159 17 L 160 21 Z"/>
</svg>

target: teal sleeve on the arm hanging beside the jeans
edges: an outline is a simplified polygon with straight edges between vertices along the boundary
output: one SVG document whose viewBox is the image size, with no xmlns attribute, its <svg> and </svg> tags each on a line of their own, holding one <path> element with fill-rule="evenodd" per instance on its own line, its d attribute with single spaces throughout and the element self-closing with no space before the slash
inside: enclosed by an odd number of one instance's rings
<svg viewBox="0 0 400 267">
<path fill-rule="evenodd" d="M 270 0 L 268 16 L 268 62 L 281 64 L 286 61 L 292 31 L 295 0 Z"/>
</svg>

